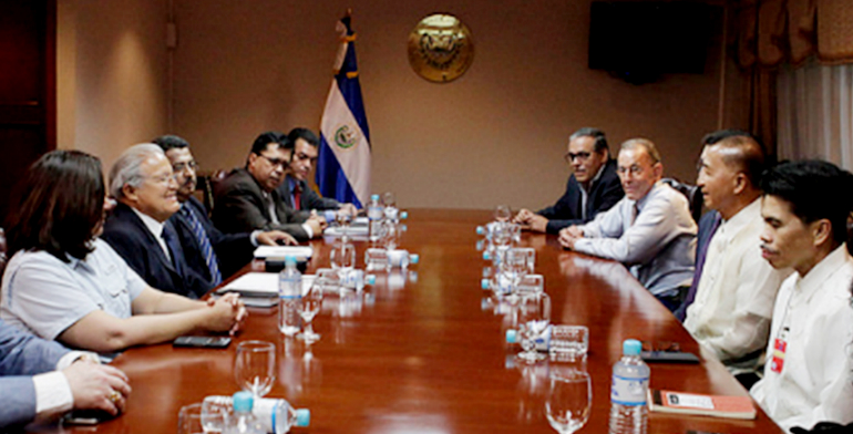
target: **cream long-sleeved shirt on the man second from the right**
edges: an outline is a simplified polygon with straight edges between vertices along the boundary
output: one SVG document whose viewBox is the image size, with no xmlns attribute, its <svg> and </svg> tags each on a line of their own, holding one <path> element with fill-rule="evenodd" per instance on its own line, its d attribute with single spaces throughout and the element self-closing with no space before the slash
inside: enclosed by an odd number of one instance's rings
<svg viewBox="0 0 853 434">
<path fill-rule="evenodd" d="M 685 329 L 734 374 L 759 368 L 775 294 L 791 273 L 777 271 L 761 257 L 763 228 L 759 199 L 720 224 L 687 308 Z"/>
</svg>

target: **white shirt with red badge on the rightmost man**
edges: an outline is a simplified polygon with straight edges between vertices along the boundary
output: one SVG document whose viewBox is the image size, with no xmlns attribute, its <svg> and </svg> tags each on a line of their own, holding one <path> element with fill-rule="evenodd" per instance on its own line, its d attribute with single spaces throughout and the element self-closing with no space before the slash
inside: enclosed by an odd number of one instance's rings
<svg viewBox="0 0 853 434">
<path fill-rule="evenodd" d="M 853 422 L 851 280 L 853 258 L 841 245 L 804 277 L 792 273 L 779 290 L 764 378 L 750 394 L 785 431 Z M 777 339 L 787 343 L 780 372 Z"/>
</svg>

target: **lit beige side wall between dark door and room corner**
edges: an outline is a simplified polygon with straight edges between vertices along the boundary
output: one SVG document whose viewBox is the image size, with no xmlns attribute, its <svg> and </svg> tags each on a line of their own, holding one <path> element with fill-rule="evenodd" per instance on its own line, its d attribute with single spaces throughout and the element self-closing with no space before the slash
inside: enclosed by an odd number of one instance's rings
<svg viewBox="0 0 853 434">
<path fill-rule="evenodd" d="M 97 155 L 167 128 L 165 0 L 59 0 L 58 144 Z"/>
</svg>

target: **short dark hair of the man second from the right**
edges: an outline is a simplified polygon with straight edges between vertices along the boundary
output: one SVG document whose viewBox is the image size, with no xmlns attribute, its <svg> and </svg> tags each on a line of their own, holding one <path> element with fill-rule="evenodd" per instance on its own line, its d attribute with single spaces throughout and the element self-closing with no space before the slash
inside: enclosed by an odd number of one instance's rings
<svg viewBox="0 0 853 434">
<path fill-rule="evenodd" d="M 767 153 L 761 142 L 752 134 L 740 130 L 719 130 L 702 137 L 702 145 L 720 145 L 738 151 L 724 154 L 723 162 L 738 166 L 753 187 L 761 184 L 761 174 L 767 168 Z"/>
</svg>

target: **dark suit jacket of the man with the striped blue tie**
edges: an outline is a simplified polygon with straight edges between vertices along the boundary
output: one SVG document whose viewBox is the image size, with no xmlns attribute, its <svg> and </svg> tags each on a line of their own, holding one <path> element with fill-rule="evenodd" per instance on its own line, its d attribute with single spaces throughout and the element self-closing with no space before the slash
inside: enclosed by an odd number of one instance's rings
<svg viewBox="0 0 853 434">
<path fill-rule="evenodd" d="M 251 261 L 253 252 L 255 251 L 255 246 L 251 244 L 251 232 L 223 234 L 214 226 L 210 218 L 207 217 L 204 205 L 195 197 L 191 196 L 189 200 L 185 202 L 183 206 L 192 209 L 198 223 L 204 227 L 214 252 L 216 252 L 223 279 L 235 273 L 243 266 Z M 175 213 L 169 220 L 172 220 L 177 230 L 181 248 L 184 249 L 184 261 L 186 265 L 195 270 L 198 276 L 204 277 L 208 282 L 213 282 L 213 276 L 210 276 L 210 269 L 207 268 L 207 262 L 205 262 L 202 246 L 195 234 L 193 234 L 193 225 L 182 213 Z"/>
</svg>

